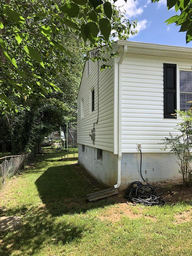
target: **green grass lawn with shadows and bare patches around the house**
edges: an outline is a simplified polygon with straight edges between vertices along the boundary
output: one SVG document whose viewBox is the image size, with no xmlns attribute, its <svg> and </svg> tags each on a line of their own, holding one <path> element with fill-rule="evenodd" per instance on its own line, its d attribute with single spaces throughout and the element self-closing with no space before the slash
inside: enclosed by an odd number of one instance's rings
<svg viewBox="0 0 192 256">
<path fill-rule="evenodd" d="M 45 149 L 0 192 L 1 216 L 22 219 L 0 232 L 1 256 L 192 255 L 190 202 L 131 206 L 122 194 L 88 202 L 104 187 L 60 154 Z"/>
</svg>

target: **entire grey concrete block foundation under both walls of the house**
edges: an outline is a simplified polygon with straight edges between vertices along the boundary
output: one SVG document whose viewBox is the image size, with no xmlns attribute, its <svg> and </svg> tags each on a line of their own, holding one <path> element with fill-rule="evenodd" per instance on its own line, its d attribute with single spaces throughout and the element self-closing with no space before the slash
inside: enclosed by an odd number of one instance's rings
<svg viewBox="0 0 192 256">
<path fill-rule="evenodd" d="M 117 155 L 103 150 L 102 159 L 98 159 L 97 150 L 79 144 L 79 164 L 98 182 L 103 183 L 107 188 L 112 188 L 117 183 Z M 119 191 L 126 189 L 131 182 L 143 182 L 140 161 L 140 153 L 122 154 Z M 178 171 L 179 168 L 173 153 L 142 153 L 142 175 L 149 183 L 180 179 L 182 176 Z"/>
</svg>

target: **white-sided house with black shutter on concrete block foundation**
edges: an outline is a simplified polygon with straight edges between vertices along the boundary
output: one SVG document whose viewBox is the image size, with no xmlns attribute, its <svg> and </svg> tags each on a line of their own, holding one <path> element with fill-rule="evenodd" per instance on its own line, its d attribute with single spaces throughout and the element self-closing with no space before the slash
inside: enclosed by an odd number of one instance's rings
<svg viewBox="0 0 192 256">
<path fill-rule="evenodd" d="M 162 139 L 177 134 L 171 113 L 192 100 L 192 49 L 117 41 L 112 68 L 85 63 L 77 97 L 79 163 L 120 190 L 133 181 L 180 178 L 176 156 Z"/>
</svg>

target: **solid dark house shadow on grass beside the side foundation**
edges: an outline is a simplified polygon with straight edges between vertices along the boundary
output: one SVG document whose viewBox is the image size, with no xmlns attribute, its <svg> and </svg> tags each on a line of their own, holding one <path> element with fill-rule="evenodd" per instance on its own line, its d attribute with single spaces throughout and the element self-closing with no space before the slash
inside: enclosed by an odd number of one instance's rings
<svg viewBox="0 0 192 256">
<path fill-rule="evenodd" d="M 53 216 L 81 213 L 118 203 L 118 197 L 114 196 L 88 202 L 87 194 L 106 188 L 95 182 L 79 164 L 50 167 L 36 180 L 35 185 L 42 202 Z"/>
</svg>

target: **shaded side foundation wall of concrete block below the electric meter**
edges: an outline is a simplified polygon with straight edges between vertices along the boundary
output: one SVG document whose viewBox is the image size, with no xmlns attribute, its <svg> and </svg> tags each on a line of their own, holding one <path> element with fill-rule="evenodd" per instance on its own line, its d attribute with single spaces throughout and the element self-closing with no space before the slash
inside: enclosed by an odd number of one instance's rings
<svg viewBox="0 0 192 256">
<path fill-rule="evenodd" d="M 117 155 L 103 150 L 103 159 L 97 159 L 97 148 L 85 146 L 82 152 L 82 144 L 79 144 L 79 164 L 98 182 L 107 188 L 113 187 L 117 182 Z"/>
</svg>

